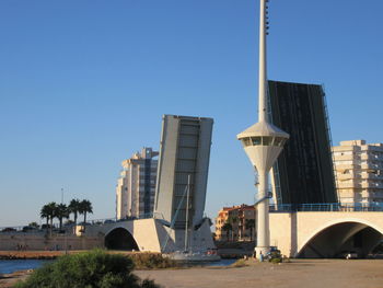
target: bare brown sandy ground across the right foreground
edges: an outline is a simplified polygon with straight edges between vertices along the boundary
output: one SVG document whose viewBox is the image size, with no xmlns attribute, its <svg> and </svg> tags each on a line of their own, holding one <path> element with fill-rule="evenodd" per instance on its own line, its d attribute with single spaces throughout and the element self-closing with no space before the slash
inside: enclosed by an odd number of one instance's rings
<svg viewBox="0 0 383 288">
<path fill-rule="evenodd" d="M 381 260 L 293 260 L 280 265 L 251 263 L 242 268 L 139 270 L 165 288 L 383 288 Z"/>
</svg>

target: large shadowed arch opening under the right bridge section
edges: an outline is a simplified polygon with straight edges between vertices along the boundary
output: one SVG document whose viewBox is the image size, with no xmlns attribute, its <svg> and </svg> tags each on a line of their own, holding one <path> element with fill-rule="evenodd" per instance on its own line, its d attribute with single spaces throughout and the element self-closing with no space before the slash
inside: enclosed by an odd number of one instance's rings
<svg viewBox="0 0 383 288">
<path fill-rule="evenodd" d="M 356 252 L 365 257 L 381 241 L 383 228 L 364 219 L 343 218 L 315 229 L 298 249 L 297 257 L 341 257 Z"/>
</svg>

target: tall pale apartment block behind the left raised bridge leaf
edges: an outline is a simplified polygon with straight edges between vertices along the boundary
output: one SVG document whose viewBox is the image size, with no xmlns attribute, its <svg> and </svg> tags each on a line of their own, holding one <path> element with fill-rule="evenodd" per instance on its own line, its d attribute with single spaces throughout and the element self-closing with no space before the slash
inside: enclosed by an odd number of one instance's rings
<svg viewBox="0 0 383 288">
<path fill-rule="evenodd" d="M 116 187 L 117 219 L 148 217 L 153 214 L 159 152 L 142 148 L 121 162 Z"/>
</svg>

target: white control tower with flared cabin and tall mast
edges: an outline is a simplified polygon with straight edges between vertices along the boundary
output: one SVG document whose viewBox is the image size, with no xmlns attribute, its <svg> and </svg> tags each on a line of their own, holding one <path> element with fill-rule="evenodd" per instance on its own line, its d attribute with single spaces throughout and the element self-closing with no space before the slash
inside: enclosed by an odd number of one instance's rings
<svg viewBox="0 0 383 288">
<path fill-rule="evenodd" d="M 258 258 L 260 258 L 260 252 L 265 255 L 270 250 L 268 206 L 271 196 L 268 193 L 268 172 L 282 151 L 285 142 L 289 139 L 287 133 L 268 122 L 266 73 L 267 2 L 268 0 L 260 0 L 258 123 L 236 136 L 242 141 L 247 157 L 258 173 L 258 197 L 255 203 L 257 210 L 257 243 L 255 252 Z"/>
</svg>

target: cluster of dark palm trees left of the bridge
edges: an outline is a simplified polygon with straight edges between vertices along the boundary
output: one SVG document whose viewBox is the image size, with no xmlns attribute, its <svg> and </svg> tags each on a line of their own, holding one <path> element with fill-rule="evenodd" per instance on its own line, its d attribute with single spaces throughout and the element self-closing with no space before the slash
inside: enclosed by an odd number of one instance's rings
<svg viewBox="0 0 383 288">
<path fill-rule="evenodd" d="M 46 219 L 46 228 L 50 228 L 50 234 L 51 229 L 54 226 L 54 219 L 57 218 L 59 220 L 59 230 L 62 230 L 62 220 L 69 219 L 70 215 L 73 215 L 73 224 L 77 226 L 78 216 L 83 215 L 84 217 L 84 224 L 86 223 L 86 215 L 93 214 L 93 207 L 92 203 L 90 200 L 83 199 L 72 199 L 69 205 L 66 204 L 57 204 L 55 201 L 48 203 L 43 206 L 39 216 L 42 219 Z M 50 222 L 50 224 L 49 224 Z M 85 226 L 84 226 L 85 229 Z"/>
</svg>

